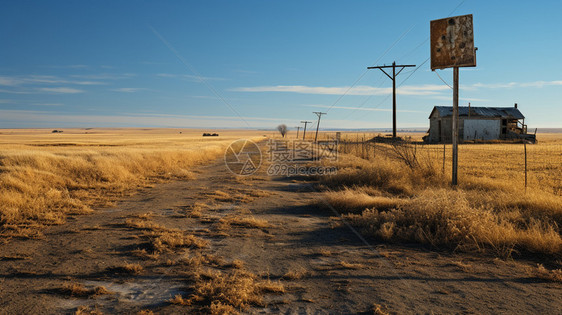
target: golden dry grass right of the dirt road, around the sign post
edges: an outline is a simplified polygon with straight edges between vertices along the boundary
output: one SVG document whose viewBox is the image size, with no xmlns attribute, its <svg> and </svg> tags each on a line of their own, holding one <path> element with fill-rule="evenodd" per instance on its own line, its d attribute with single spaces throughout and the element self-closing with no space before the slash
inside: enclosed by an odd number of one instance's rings
<svg viewBox="0 0 562 315">
<path fill-rule="evenodd" d="M 460 146 L 457 189 L 449 185 L 450 145 L 443 169 L 443 145 L 348 144 L 338 174 L 320 181 L 330 203 L 377 238 L 500 257 L 543 254 L 559 265 L 562 134 L 538 139 L 527 145 L 527 189 L 523 144 L 500 143 Z"/>
</svg>

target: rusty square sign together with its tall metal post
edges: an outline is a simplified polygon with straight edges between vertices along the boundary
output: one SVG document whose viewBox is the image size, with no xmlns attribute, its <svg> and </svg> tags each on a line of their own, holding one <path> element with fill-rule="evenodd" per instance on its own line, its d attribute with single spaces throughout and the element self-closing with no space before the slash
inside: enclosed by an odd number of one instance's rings
<svg viewBox="0 0 562 315">
<path fill-rule="evenodd" d="M 459 67 L 476 67 L 476 47 L 472 14 L 430 22 L 431 70 L 453 68 L 453 172 L 451 184 L 456 186 L 459 142 Z"/>
</svg>

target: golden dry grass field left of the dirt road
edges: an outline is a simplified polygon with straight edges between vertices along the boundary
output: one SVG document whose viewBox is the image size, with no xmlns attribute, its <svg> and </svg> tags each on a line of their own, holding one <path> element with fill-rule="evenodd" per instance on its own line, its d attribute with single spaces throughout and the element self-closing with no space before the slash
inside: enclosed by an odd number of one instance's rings
<svg viewBox="0 0 562 315">
<path fill-rule="evenodd" d="M 191 169 L 256 132 L 185 129 L 0 130 L 0 236 L 37 237 L 70 213 L 110 205 Z"/>
</svg>

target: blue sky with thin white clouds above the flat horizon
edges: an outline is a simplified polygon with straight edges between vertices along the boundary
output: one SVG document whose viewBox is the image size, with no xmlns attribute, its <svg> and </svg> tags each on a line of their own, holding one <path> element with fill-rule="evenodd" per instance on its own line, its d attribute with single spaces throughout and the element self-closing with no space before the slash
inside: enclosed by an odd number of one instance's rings
<svg viewBox="0 0 562 315">
<path fill-rule="evenodd" d="M 425 127 L 452 103 L 427 61 L 429 21 L 449 14 L 474 15 L 478 47 L 460 105 L 517 102 L 530 128 L 560 128 L 561 12 L 561 1 L 1 1 L 0 128 L 294 127 L 313 111 L 328 112 L 326 128 L 386 128 L 391 81 L 366 67 L 393 61 L 421 65 L 397 78 L 398 128 Z"/>
</svg>

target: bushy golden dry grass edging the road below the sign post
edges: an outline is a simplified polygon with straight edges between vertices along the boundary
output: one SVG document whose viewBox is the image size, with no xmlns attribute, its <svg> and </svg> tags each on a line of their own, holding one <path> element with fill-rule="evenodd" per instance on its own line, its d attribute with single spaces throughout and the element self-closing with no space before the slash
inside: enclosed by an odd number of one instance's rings
<svg viewBox="0 0 562 315">
<path fill-rule="evenodd" d="M 370 209 L 348 217 L 384 240 L 491 249 L 502 256 L 509 256 L 513 249 L 544 254 L 560 254 L 562 249 L 555 225 L 534 219 L 521 226 L 501 212 L 472 207 L 462 191 L 428 189 L 395 209 Z"/>
</svg>

